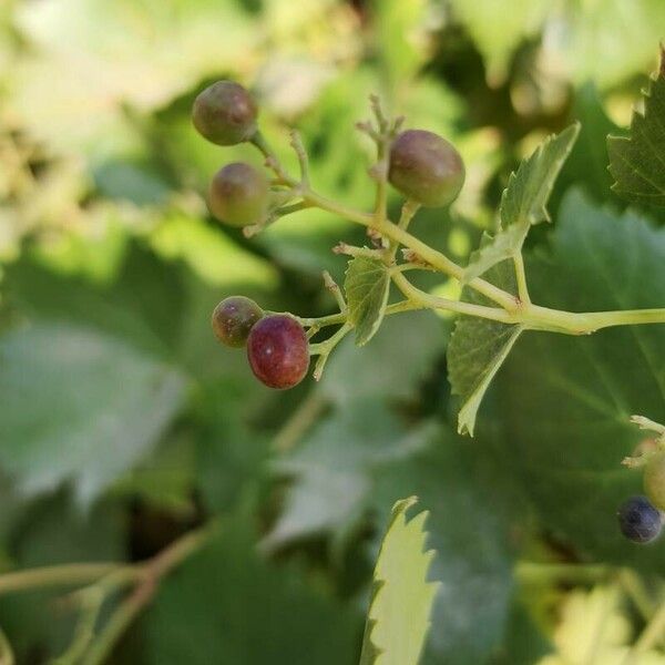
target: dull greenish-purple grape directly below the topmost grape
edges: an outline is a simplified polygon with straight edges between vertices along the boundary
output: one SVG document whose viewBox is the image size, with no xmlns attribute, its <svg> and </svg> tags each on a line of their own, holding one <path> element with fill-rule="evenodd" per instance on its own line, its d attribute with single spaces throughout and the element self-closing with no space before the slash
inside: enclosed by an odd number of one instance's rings
<svg viewBox="0 0 665 665">
<path fill-rule="evenodd" d="M 208 207 L 217 219 L 231 226 L 263 222 L 268 212 L 269 185 L 266 176 L 243 162 L 217 171 L 208 192 Z"/>
</svg>

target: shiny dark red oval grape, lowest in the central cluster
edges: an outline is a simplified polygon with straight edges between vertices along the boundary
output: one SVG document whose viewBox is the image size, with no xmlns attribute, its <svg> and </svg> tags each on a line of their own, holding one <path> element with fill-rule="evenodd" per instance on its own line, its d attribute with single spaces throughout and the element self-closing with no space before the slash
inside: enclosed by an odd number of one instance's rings
<svg viewBox="0 0 665 665">
<path fill-rule="evenodd" d="M 247 358 L 256 378 L 269 388 L 297 386 L 309 368 L 303 326 L 286 314 L 264 317 L 249 332 Z"/>
</svg>

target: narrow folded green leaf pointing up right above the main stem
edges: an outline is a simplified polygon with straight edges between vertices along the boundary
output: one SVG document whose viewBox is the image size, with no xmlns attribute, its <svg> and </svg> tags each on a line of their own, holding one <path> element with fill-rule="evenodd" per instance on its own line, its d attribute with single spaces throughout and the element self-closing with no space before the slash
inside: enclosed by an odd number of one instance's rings
<svg viewBox="0 0 665 665">
<path fill-rule="evenodd" d="M 511 173 L 501 196 L 499 232 L 491 243 L 485 243 L 471 257 L 464 270 L 464 282 L 516 255 L 522 250 L 531 226 L 550 221 L 545 206 L 579 133 L 580 125 L 575 123 L 560 134 L 552 134 L 528 160 L 522 161 L 516 172 Z"/>
</svg>

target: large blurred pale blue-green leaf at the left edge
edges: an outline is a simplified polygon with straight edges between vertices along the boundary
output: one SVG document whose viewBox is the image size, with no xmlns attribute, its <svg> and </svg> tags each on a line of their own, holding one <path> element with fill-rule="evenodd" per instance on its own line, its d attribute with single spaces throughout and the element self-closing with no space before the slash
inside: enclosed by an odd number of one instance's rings
<svg viewBox="0 0 665 665">
<path fill-rule="evenodd" d="M 0 460 L 25 492 L 76 480 L 93 499 L 182 408 L 173 367 L 101 331 L 40 321 L 0 337 Z"/>
</svg>

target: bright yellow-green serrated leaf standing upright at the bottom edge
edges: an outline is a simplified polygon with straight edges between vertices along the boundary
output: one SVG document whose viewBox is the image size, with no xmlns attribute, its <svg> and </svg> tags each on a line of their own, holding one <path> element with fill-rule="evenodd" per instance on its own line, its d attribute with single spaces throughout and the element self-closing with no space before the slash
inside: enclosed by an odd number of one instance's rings
<svg viewBox="0 0 665 665">
<path fill-rule="evenodd" d="M 411 497 L 392 507 L 374 574 L 360 665 L 418 665 L 438 584 L 427 582 L 433 550 L 423 552 L 428 512 L 407 522 Z"/>
</svg>

